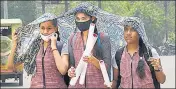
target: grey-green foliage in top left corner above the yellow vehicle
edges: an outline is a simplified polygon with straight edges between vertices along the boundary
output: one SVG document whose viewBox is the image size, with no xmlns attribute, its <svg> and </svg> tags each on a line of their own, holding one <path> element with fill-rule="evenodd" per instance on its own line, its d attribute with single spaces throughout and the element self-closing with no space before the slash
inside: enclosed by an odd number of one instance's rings
<svg viewBox="0 0 176 89">
<path fill-rule="evenodd" d="M 8 18 L 20 18 L 23 25 L 35 20 L 35 1 L 8 1 Z"/>
</svg>

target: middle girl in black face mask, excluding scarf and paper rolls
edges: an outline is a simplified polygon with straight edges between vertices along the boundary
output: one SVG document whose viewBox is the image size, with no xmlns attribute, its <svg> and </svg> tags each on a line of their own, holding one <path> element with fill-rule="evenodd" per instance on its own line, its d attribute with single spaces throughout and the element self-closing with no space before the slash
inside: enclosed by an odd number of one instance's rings
<svg viewBox="0 0 176 89">
<path fill-rule="evenodd" d="M 77 67 L 83 51 L 86 47 L 86 42 L 88 38 L 89 26 L 96 19 L 85 12 L 84 9 L 80 8 L 75 12 L 75 21 L 76 26 L 79 29 L 73 36 L 70 36 L 69 40 L 72 39 L 71 45 L 73 47 L 73 56 L 75 61 L 75 67 L 70 68 L 68 75 L 72 78 L 75 76 L 75 68 Z M 75 86 L 69 86 L 69 88 L 105 88 L 104 79 L 102 72 L 100 70 L 99 60 L 104 60 L 107 68 L 110 68 L 111 65 L 111 44 L 109 37 L 103 33 L 98 32 L 98 29 L 95 29 L 95 33 L 100 36 L 98 39 L 101 40 L 101 47 L 98 44 L 98 40 L 93 48 L 92 56 L 90 58 L 85 58 L 85 62 L 88 63 L 85 84 L 81 85 L 77 81 Z M 101 54 L 102 53 L 102 54 Z M 70 54 L 70 53 L 69 53 Z"/>
</svg>

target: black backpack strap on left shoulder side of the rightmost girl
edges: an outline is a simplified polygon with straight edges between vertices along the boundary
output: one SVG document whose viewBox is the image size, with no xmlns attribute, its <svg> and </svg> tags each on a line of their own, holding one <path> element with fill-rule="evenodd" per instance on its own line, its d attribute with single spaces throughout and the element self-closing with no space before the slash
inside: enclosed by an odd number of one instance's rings
<svg viewBox="0 0 176 89">
<path fill-rule="evenodd" d="M 120 82 L 121 82 L 121 76 L 120 76 L 120 62 L 121 62 L 121 57 L 122 57 L 122 53 L 125 47 L 120 48 L 118 51 L 116 51 L 115 54 L 115 60 L 118 66 L 118 80 L 117 80 L 117 88 L 120 86 Z"/>
</svg>

